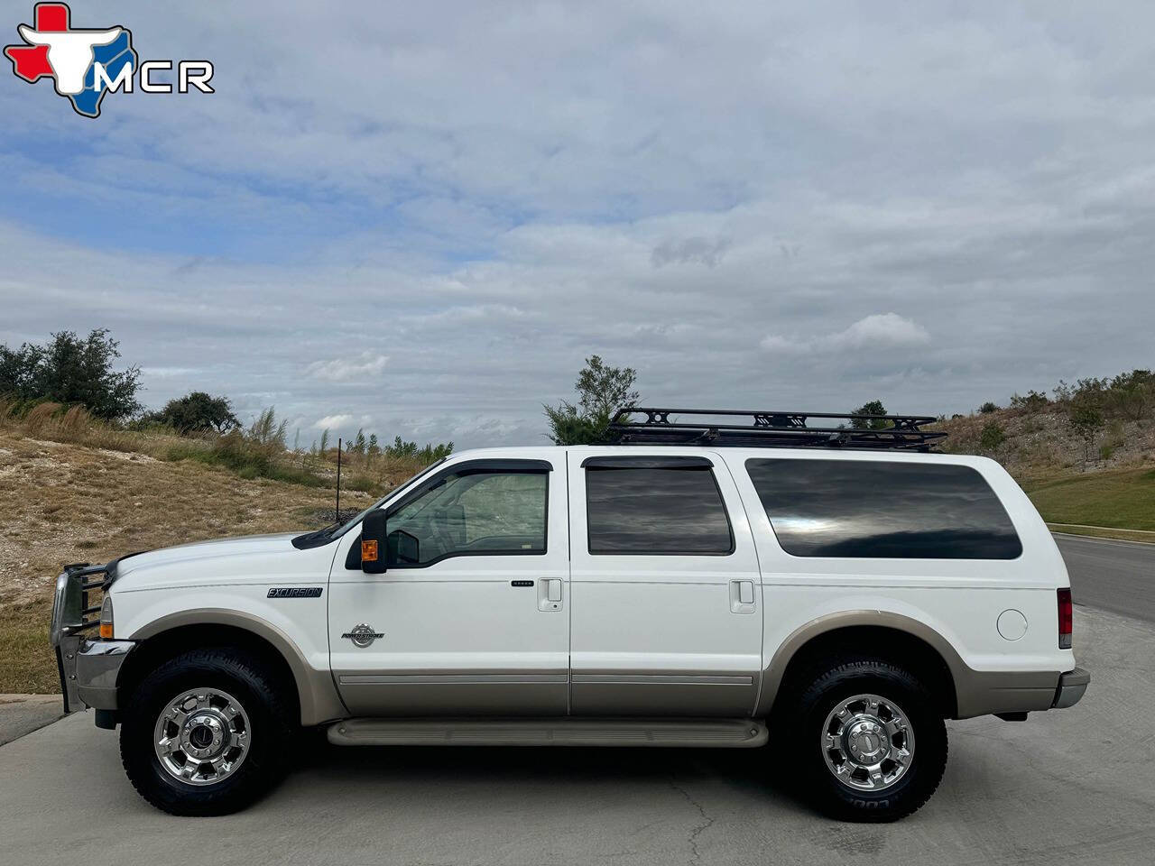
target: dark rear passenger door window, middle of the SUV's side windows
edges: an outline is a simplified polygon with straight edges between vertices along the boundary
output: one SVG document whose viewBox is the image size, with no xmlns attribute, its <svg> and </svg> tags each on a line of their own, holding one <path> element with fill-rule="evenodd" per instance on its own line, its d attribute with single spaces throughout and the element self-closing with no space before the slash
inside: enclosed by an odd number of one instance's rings
<svg viewBox="0 0 1155 866">
<path fill-rule="evenodd" d="M 590 553 L 724 554 L 730 520 L 709 466 L 586 470 Z"/>
</svg>

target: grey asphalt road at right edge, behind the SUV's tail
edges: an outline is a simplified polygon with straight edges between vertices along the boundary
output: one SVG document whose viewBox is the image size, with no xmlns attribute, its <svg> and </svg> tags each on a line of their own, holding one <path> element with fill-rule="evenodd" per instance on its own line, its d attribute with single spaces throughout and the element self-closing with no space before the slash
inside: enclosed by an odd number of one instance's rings
<svg viewBox="0 0 1155 866">
<path fill-rule="evenodd" d="M 1075 604 L 1155 622 L 1155 544 L 1058 533 L 1055 540 Z"/>
</svg>

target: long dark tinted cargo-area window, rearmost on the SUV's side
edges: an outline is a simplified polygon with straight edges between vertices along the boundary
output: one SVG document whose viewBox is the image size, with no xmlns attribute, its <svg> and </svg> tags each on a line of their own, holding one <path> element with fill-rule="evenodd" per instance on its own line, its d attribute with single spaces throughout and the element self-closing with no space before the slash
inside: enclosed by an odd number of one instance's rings
<svg viewBox="0 0 1155 866">
<path fill-rule="evenodd" d="M 787 553 L 886 559 L 1014 559 L 1011 518 L 969 466 L 750 460 L 746 470 Z"/>
</svg>

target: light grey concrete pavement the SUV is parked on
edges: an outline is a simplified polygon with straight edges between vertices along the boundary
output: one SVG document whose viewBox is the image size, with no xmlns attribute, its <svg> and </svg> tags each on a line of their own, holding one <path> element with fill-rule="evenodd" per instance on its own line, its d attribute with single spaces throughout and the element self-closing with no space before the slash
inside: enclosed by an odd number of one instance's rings
<svg viewBox="0 0 1155 866">
<path fill-rule="evenodd" d="M 327 746 L 248 812 L 176 819 L 76 714 L 0 747 L 0 839 L 22 866 L 1152 864 L 1155 628 L 1075 617 L 1085 701 L 949 723 L 942 786 L 896 824 L 813 814 L 760 753 Z"/>
</svg>

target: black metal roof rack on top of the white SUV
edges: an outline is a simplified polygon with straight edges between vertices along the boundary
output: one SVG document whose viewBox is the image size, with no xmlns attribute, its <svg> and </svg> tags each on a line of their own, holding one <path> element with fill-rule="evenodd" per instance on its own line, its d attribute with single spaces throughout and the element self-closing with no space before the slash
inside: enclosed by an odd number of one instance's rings
<svg viewBox="0 0 1155 866">
<path fill-rule="evenodd" d="M 812 426 L 813 419 L 820 423 Z M 856 421 L 866 426 L 851 426 Z M 925 415 L 623 406 L 606 430 L 606 443 L 929 451 L 934 440 L 946 435 L 922 428 L 936 421 Z"/>
</svg>

